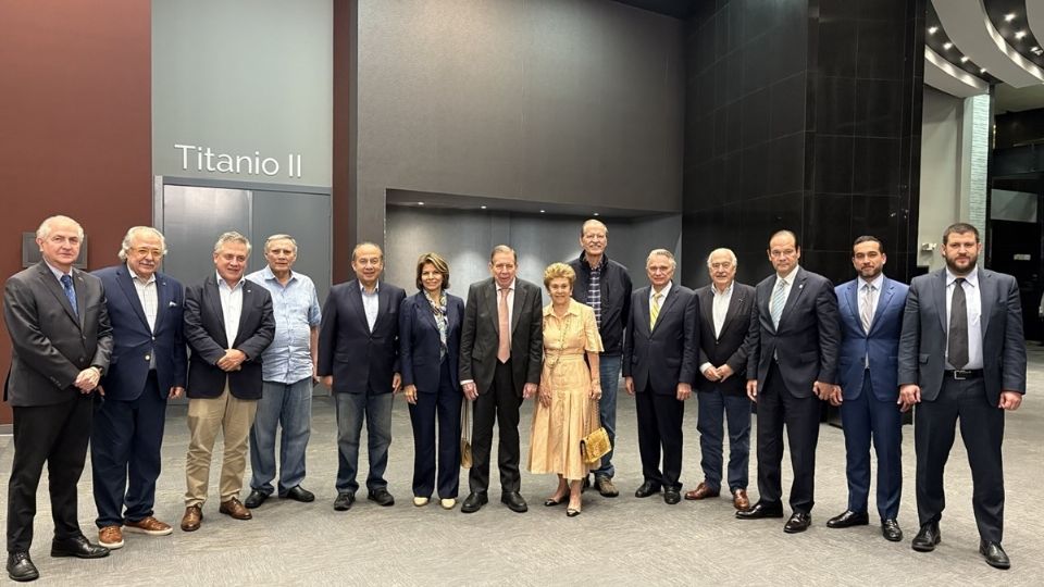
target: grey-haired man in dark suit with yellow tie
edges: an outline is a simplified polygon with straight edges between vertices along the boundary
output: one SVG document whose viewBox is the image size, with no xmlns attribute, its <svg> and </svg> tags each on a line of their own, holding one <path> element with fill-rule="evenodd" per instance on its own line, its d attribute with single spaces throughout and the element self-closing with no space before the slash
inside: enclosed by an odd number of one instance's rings
<svg viewBox="0 0 1044 587">
<path fill-rule="evenodd" d="M 645 478 L 634 497 L 663 489 L 663 501 L 681 500 L 682 416 L 693 395 L 699 355 L 699 307 L 692 289 L 672 282 L 674 255 L 655 249 L 645 262 L 651 287 L 631 297 L 623 345 L 623 383 L 635 397 L 638 451 Z M 663 469 L 660 470 L 660 451 Z"/>
</svg>

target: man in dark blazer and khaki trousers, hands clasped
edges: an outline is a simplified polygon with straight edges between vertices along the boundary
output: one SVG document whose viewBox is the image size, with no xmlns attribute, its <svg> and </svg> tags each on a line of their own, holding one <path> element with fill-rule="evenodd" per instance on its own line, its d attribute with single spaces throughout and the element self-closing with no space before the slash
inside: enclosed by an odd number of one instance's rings
<svg viewBox="0 0 1044 587">
<path fill-rule="evenodd" d="M 224 440 L 219 512 L 252 516 L 241 501 L 247 437 L 261 398 L 261 353 L 275 337 L 269 290 L 244 277 L 250 241 L 225 233 L 214 245 L 216 273 L 185 291 L 188 363 L 188 453 L 182 529 L 199 529 L 217 432 Z"/>
</svg>

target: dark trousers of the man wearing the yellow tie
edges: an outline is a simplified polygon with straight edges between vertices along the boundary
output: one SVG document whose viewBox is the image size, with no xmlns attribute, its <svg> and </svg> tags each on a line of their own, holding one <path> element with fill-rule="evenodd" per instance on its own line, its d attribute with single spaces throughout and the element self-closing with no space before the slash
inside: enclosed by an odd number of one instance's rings
<svg viewBox="0 0 1044 587">
<path fill-rule="evenodd" d="M 651 386 L 634 395 L 638 414 L 638 453 L 645 480 L 667 489 L 681 489 L 682 416 L 685 402 L 671 394 L 656 394 Z M 660 472 L 660 450 L 663 472 Z"/>
</svg>

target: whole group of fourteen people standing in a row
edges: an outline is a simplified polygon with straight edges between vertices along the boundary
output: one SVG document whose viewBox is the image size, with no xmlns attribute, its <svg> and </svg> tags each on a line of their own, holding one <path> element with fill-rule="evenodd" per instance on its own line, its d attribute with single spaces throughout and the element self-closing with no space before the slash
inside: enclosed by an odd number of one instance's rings
<svg viewBox="0 0 1044 587">
<path fill-rule="evenodd" d="M 490 277 L 472 284 L 465 302 L 447 291 L 449 266 L 437 253 L 420 257 L 418 291 L 407 296 L 381 279 L 381 248 L 360 243 L 351 254 L 356 278 L 335 285 L 320 307 L 312 280 L 293 270 L 297 245 L 289 235 L 266 240 L 268 265 L 250 275 L 248 239 L 221 235 L 214 273 L 187 288 L 159 271 L 166 247 L 154 228 L 130 228 L 121 262 L 95 273 L 73 266 L 82 241 L 74 220 L 45 220 L 37 230 L 42 260 L 4 288 L 13 346 L 5 386 L 14 413 L 12 579 L 39 576 L 28 550 L 45 463 L 52 555 L 100 558 L 124 546 L 124 532 L 172 533 L 153 516 L 153 504 L 166 400 L 183 394 L 190 433 L 184 532 L 202 524 L 219 432 L 220 513 L 249 520 L 273 494 L 314 500 L 301 484 L 312 386 L 320 380 L 336 403 L 335 510 L 350 510 L 360 489 L 363 421 L 366 498 L 395 503 L 384 473 L 393 398 L 401 392 L 413 428 L 414 505 L 437 496 L 442 508 L 456 507 L 467 405 L 472 462 L 461 511 L 488 503 L 496 425 L 500 501 L 525 512 L 520 405 L 535 398 L 527 469 L 557 475 L 545 507 L 564 504 L 568 516 L 580 515 L 588 486 L 619 495 L 612 451 L 592 464 L 580 446 L 599 426 L 614 445 L 621 371 L 637 413 L 643 483 L 635 497 L 662 494 L 675 504 L 728 489 L 736 517 L 783 517 L 785 429 L 794 473 L 786 533 L 811 524 L 816 446 L 830 403 L 840 407 L 844 425 L 848 504 L 826 526 L 869 523 L 872 444 L 881 532 L 902 540 L 902 412 L 916 405 L 920 529 L 912 548 L 934 549 L 943 466 L 959 420 L 980 552 L 995 567 L 1010 564 L 1000 547 L 1000 445 L 1004 410 L 1017 409 L 1026 390 L 1021 307 L 1012 277 L 978 266 L 982 246 L 971 225 L 948 227 L 946 267 L 909 287 L 884 275 L 886 255 L 874 237 L 855 241 L 857 277 L 835 288 L 799 265 L 797 237 L 781 230 L 767 250 L 775 271 L 756 287 L 735 280 L 736 257 L 722 248 L 707 258 L 710 285 L 694 291 L 674 282 L 675 260 L 664 249 L 648 254 L 649 285 L 634 290 L 627 270 L 606 254 L 608 228 L 591 220 L 581 228 L 579 258 L 545 270 L 546 307 L 540 288 L 517 276 L 518 255 L 504 245 L 492 251 Z M 682 422 L 694 388 L 703 480 L 683 496 Z M 746 492 L 751 405 L 759 494 L 753 505 Z M 84 536 L 76 515 L 88 440 L 98 544 Z M 250 494 L 240 502 L 248 452 Z"/>
</svg>

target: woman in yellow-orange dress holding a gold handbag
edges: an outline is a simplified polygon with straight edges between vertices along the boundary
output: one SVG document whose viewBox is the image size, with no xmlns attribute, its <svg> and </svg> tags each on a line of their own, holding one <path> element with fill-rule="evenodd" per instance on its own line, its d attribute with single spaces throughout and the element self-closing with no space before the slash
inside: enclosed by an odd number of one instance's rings
<svg viewBox="0 0 1044 587">
<path fill-rule="evenodd" d="M 564 263 L 544 271 L 551 303 L 544 308 L 544 372 L 530 434 L 531 473 L 557 473 L 558 488 L 544 505 L 566 503 L 566 515 L 581 511 L 581 483 L 592 466 L 584 463 L 580 440 L 598 427 L 598 353 L 601 337 L 595 311 L 572 298 L 576 274 Z M 584 362 L 584 355 L 587 362 Z"/>
</svg>

